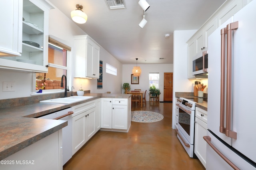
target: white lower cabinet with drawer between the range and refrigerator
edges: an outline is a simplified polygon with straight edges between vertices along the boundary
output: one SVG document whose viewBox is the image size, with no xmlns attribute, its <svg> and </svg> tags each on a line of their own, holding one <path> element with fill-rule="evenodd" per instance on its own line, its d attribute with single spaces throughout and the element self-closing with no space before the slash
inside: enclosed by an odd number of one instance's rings
<svg viewBox="0 0 256 170">
<path fill-rule="evenodd" d="M 194 153 L 200 162 L 206 167 L 206 141 L 203 136 L 207 136 L 207 111 L 196 107 L 195 118 L 195 142 Z"/>
</svg>

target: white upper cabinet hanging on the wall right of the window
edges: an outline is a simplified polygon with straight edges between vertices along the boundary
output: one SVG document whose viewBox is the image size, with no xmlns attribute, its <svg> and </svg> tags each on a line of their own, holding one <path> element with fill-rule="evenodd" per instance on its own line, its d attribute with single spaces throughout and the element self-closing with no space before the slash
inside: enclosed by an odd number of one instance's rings
<svg viewBox="0 0 256 170">
<path fill-rule="evenodd" d="M 74 36 L 74 57 L 74 77 L 100 77 L 100 45 L 88 35 Z"/>
</svg>

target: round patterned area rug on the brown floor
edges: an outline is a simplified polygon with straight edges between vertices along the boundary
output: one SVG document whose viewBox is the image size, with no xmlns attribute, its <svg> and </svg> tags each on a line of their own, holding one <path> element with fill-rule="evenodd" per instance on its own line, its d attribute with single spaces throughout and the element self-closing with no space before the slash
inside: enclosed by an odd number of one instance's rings
<svg viewBox="0 0 256 170">
<path fill-rule="evenodd" d="M 164 116 L 150 111 L 132 111 L 132 121 L 141 123 L 157 122 L 164 119 Z"/>
</svg>

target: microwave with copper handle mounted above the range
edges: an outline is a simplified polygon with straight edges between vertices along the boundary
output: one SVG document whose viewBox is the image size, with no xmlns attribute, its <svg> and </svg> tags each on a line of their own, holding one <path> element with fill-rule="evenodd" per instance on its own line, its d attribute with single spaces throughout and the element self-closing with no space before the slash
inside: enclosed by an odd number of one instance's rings
<svg viewBox="0 0 256 170">
<path fill-rule="evenodd" d="M 208 69 L 208 51 L 203 51 L 202 55 L 193 58 L 193 75 L 207 73 Z"/>
</svg>

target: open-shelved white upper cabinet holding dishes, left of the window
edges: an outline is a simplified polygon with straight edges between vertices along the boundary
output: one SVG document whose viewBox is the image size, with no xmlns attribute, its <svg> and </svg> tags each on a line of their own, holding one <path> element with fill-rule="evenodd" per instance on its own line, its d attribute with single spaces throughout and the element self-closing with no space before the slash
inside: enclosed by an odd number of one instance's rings
<svg viewBox="0 0 256 170">
<path fill-rule="evenodd" d="M 23 0 L 22 8 L 21 56 L 0 57 L 0 68 L 47 73 L 49 10 L 53 7 L 44 0 Z"/>
</svg>

